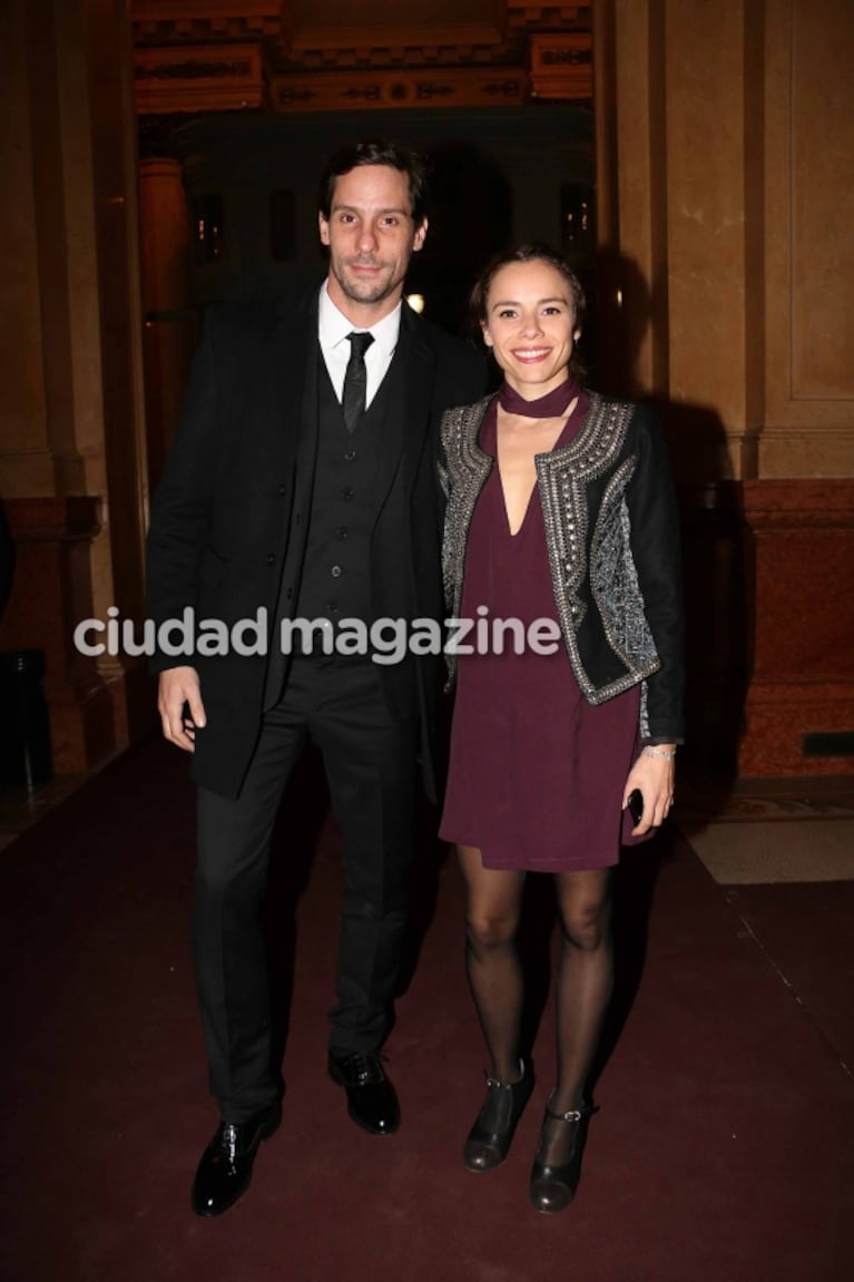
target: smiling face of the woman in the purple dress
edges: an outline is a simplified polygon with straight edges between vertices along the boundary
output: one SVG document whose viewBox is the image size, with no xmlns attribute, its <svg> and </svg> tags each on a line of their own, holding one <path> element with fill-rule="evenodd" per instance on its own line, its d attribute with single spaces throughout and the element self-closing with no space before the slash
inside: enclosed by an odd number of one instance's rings
<svg viewBox="0 0 854 1282">
<path fill-rule="evenodd" d="M 537 258 L 496 272 L 482 329 L 508 383 L 526 400 L 545 396 L 568 377 L 580 332 L 572 291 L 550 263 Z"/>
</svg>

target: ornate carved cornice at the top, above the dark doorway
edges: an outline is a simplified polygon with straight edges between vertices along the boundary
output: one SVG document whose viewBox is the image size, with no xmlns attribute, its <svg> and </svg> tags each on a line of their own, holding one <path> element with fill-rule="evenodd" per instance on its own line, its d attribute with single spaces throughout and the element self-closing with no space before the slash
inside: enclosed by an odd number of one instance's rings
<svg viewBox="0 0 854 1282">
<path fill-rule="evenodd" d="M 132 0 L 137 108 L 489 106 L 592 92 L 591 4 Z"/>
</svg>

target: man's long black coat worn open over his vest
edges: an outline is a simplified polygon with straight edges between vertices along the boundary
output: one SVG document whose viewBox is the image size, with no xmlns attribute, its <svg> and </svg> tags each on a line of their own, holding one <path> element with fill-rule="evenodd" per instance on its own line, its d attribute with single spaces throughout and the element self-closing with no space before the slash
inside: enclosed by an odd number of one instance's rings
<svg viewBox="0 0 854 1282">
<path fill-rule="evenodd" d="M 210 309 L 194 362 L 182 420 L 151 512 L 147 617 L 158 629 L 182 619 L 218 619 L 227 629 L 263 608 L 272 624 L 291 538 L 295 463 L 317 291 L 299 299 Z M 371 538 L 374 618 L 442 618 L 439 423 L 445 409 L 477 399 L 481 355 L 404 305 L 401 422 L 383 431 Z M 390 412 L 391 413 L 391 412 Z M 294 549 L 291 549 L 291 553 Z M 301 547 L 297 549 L 301 554 Z M 290 563 L 294 556 L 291 555 Z M 180 635 L 176 633 L 180 640 Z M 276 644 L 268 638 L 269 645 Z M 208 724 L 196 732 L 194 778 L 235 796 L 258 740 L 269 654 L 151 659 L 160 672 L 199 670 Z M 422 719 L 427 790 L 435 794 L 432 663 L 381 667 L 392 717 Z"/>
</svg>

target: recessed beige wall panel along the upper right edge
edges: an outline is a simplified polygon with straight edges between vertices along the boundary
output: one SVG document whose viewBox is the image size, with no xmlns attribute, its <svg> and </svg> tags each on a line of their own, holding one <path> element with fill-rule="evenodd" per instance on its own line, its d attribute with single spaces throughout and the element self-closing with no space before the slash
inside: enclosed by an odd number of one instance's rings
<svg viewBox="0 0 854 1282">
<path fill-rule="evenodd" d="M 854 6 L 768 0 L 760 476 L 854 474 Z"/>
</svg>

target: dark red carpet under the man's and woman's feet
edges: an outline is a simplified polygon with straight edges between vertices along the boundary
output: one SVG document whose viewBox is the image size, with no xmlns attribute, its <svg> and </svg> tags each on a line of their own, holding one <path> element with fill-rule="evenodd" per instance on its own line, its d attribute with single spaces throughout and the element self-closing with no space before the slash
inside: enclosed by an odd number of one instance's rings
<svg viewBox="0 0 854 1282">
<path fill-rule="evenodd" d="M 303 781 L 295 794 L 308 846 L 315 814 Z M 548 1218 L 528 1208 L 526 1181 L 550 1086 L 550 1008 L 508 1163 L 483 1177 L 460 1163 L 483 1054 L 453 859 L 437 885 L 424 863 L 426 935 L 387 1047 L 403 1128 L 378 1140 L 347 1120 L 324 1072 L 339 886 L 326 822 L 296 914 L 283 1124 L 249 1195 L 219 1220 L 195 1219 L 190 1181 L 215 1109 L 190 968 L 192 846 L 185 762 L 158 744 L 1 856 L 3 1282 L 854 1276 L 850 1072 L 683 844 L 662 851 L 645 970 L 599 1082 L 576 1205 Z M 653 869 L 636 853 L 623 872 L 626 999 L 644 942 L 626 931 L 626 909 L 642 920 Z M 280 864 L 273 896 L 304 881 L 304 868 Z M 822 918 L 800 926 L 792 936 L 776 920 L 790 949 L 821 956 Z M 277 944 L 286 962 L 286 928 Z M 846 956 L 839 982 L 850 992 Z M 850 1024 L 840 1038 L 850 1045 Z"/>
</svg>

